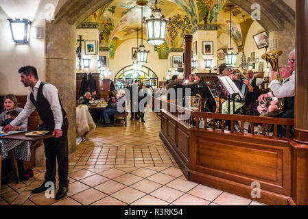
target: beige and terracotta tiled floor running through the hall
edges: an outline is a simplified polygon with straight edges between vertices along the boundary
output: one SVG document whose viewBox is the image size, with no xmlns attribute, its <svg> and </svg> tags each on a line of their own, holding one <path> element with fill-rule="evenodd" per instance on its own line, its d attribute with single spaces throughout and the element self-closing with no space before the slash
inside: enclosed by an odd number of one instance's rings
<svg viewBox="0 0 308 219">
<path fill-rule="evenodd" d="M 37 166 L 28 181 L 1 186 L 0 205 L 262 205 L 187 181 L 159 138 L 161 120 L 145 115 L 144 124 L 97 127 L 78 139 L 67 197 L 31 194 L 44 180 L 45 167 Z"/>
</svg>

